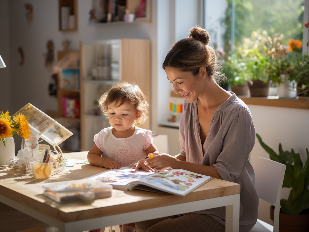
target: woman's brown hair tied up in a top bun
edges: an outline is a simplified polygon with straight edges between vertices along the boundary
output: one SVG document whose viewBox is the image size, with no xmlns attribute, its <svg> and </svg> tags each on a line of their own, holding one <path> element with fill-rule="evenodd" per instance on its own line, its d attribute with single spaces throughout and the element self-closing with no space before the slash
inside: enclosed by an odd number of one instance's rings
<svg viewBox="0 0 309 232">
<path fill-rule="evenodd" d="M 163 69 L 167 66 L 174 67 L 197 75 L 200 67 L 204 66 L 209 78 L 217 83 L 221 82 L 226 77 L 221 71 L 221 62 L 217 61 L 216 52 L 208 45 L 208 41 L 208 31 L 198 26 L 191 28 L 189 36 L 178 40 L 168 51 Z"/>
</svg>

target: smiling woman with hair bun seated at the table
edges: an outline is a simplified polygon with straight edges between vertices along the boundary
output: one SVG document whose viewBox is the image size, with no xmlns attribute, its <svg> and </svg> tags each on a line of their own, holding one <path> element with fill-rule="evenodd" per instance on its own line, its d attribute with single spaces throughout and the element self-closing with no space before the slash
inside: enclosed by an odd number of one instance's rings
<svg viewBox="0 0 309 232">
<path fill-rule="evenodd" d="M 175 93 L 185 99 L 181 150 L 176 157 L 160 153 L 145 165 L 156 171 L 180 168 L 239 183 L 239 231 L 246 232 L 256 223 L 259 204 L 249 161 L 255 129 L 246 104 L 216 83 L 220 65 L 208 40 L 205 29 L 194 27 L 167 53 L 163 69 Z M 154 161 L 155 166 L 150 164 Z M 225 231 L 225 207 L 138 222 L 136 231 Z"/>
</svg>

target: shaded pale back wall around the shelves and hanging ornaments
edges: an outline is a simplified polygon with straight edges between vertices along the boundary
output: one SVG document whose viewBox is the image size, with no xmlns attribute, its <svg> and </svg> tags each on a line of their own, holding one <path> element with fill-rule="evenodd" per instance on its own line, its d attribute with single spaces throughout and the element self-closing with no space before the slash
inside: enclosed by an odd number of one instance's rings
<svg viewBox="0 0 309 232">
<path fill-rule="evenodd" d="M 44 67 L 44 57 L 49 39 L 54 43 L 54 60 L 57 51 L 63 50 L 62 41 L 71 41 L 69 49 L 79 50 L 82 40 L 137 38 L 149 39 L 151 43 L 151 65 L 157 66 L 157 1 L 152 0 L 150 23 L 126 25 L 89 25 L 89 10 L 92 1 L 78 0 L 78 31 L 58 30 L 58 0 L 0 0 L 0 54 L 6 68 L 0 70 L 0 111 L 9 110 L 11 115 L 28 102 L 42 111 L 57 111 L 57 98 L 49 96 L 48 85 L 51 73 Z M 33 6 L 33 20 L 26 20 L 25 3 Z M 24 51 L 25 62 L 19 65 L 21 57 L 18 47 Z M 157 69 L 151 68 L 151 83 L 156 83 Z M 155 79 L 153 79 L 155 77 Z M 11 86 L 10 86 L 11 83 Z M 3 86 L 2 86 L 3 84 Z M 157 96 L 156 92 L 152 95 Z M 152 104 L 150 102 L 150 104 Z M 20 149 L 20 138 L 14 136 L 15 152 Z"/>
</svg>

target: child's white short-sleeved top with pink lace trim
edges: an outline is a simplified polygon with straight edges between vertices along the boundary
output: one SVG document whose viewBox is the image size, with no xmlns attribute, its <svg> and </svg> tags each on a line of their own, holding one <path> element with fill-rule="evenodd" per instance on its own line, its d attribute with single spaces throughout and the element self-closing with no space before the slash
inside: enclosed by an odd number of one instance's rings
<svg viewBox="0 0 309 232">
<path fill-rule="evenodd" d="M 132 167 L 146 158 L 145 150 L 152 142 L 152 131 L 135 127 L 132 136 L 116 138 L 112 127 L 104 128 L 94 136 L 94 142 L 102 151 L 102 156 L 115 161 L 120 167 Z"/>
</svg>

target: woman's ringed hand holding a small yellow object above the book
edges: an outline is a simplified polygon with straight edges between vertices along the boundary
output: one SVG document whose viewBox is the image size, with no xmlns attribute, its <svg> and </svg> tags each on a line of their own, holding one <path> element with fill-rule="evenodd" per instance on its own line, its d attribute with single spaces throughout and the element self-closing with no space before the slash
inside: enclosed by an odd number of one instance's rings
<svg viewBox="0 0 309 232">
<path fill-rule="evenodd" d="M 154 157 L 144 161 L 146 167 L 155 171 L 165 171 L 167 169 L 175 168 L 177 158 L 165 153 L 156 154 Z M 152 163 L 153 162 L 153 163 Z M 152 164 L 150 164 L 152 163 Z"/>
</svg>

